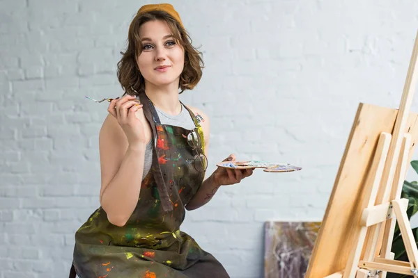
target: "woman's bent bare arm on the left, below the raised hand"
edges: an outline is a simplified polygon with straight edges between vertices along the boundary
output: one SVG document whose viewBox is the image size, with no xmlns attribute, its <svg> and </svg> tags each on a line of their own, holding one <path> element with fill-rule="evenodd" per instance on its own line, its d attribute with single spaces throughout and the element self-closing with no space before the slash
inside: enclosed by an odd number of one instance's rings
<svg viewBox="0 0 418 278">
<path fill-rule="evenodd" d="M 144 113 L 136 112 L 142 123 Z M 151 138 L 150 126 L 144 124 L 146 142 Z M 141 190 L 146 142 L 130 145 L 114 115 L 104 120 L 99 134 L 101 188 L 100 204 L 109 222 L 124 226 L 137 206 Z"/>
</svg>

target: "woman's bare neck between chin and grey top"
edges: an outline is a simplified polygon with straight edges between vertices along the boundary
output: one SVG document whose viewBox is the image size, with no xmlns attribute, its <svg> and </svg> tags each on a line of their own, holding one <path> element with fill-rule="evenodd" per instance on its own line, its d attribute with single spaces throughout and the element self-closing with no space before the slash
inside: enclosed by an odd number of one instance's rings
<svg viewBox="0 0 418 278">
<path fill-rule="evenodd" d="M 145 93 L 155 107 L 164 113 L 178 115 L 181 112 L 181 104 L 178 99 L 178 85 L 154 86 L 146 84 Z"/>
</svg>

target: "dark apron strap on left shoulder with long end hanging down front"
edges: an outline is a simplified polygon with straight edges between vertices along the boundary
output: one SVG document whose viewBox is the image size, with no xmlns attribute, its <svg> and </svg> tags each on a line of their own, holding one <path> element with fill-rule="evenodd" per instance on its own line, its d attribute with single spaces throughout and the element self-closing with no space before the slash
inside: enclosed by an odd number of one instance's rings
<svg viewBox="0 0 418 278">
<path fill-rule="evenodd" d="M 151 129 L 153 130 L 153 139 L 154 140 L 154 150 L 153 150 L 153 163 L 152 166 L 155 169 L 153 171 L 155 181 L 157 182 L 157 189 L 158 189 L 158 195 L 160 195 L 160 201 L 162 204 L 162 208 L 164 211 L 172 211 L 173 205 L 171 204 L 171 200 L 169 197 L 169 193 L 167 191 L 167 187 L 164 182 L 164 176 L 162 175 L 160 163 L 158 162 L 158 158 L 160 155 L 158 154 L 158 148 L 156 145 L 157 142 L 157 129 L 155 127 L 155 123 L 160 123 L 160 118 L 157 115 L 157 111 L 155 111 L 155 108 L 153 104 L 151 103 L 150 99 L 145 95 L 145 92 L 139 93 L 139 100 L 141 101 L 141 104 L 143 105 L 143 111 L 144 115 L 146 117 L 146 120 L 150 123 Z M 153 113 L 155 111 L 155 113 Z M 155 114 L 155 115 L 153 115 Z"/>
</svg>

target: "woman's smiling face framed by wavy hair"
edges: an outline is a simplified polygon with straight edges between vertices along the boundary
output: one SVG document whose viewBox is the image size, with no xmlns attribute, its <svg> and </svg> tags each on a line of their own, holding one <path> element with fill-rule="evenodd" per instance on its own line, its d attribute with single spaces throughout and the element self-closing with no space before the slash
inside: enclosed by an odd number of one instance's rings
<svg viewBox="0 0 418 278">
<path fill-rule="evenodd" d="M 143 49 L 137 65 L 146 83 L 156 86 L 179 82 L 185 65 L 183 47 L 174 40 L 167 22 L 154 20 L 139 29 Z"/>
</svg>

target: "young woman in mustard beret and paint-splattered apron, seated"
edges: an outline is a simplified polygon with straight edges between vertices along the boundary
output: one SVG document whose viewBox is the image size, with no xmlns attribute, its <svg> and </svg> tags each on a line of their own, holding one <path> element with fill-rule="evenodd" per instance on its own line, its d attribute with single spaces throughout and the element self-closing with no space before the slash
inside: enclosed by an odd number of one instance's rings
<svg viewBox="0 0 418 278">
<path fill-rule="evenodd" d="M 111 101 L 100 130 L 101 206 L 75 234 L 72 275 L 229 277 L 180 231 L 185 209 L 252 174 L 217 168 L 203 181 L 209 119 L 178 99 L 199 82 L 202 67 L 173 6 L 139 9 L 118 63 L 125 94 Z"/>
</svg>

